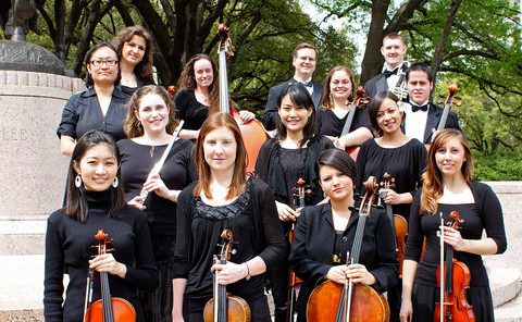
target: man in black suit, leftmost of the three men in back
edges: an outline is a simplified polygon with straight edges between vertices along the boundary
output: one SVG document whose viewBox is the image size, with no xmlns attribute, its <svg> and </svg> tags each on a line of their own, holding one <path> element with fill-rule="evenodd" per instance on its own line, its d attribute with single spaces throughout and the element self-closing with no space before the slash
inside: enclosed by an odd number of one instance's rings
<svg viewBox="0 0 522 322">
<path fill-rule="evenodd" d="M 277 115 L 277 99 L 279 98 L 283 89 L 289 84 L 302 83 L 312 96 L 313 106 L 318 108 L 321 104 L 323 98 L 323 85 L 312 81 L 313 72 L 315 71 L 316 57 L 318 51 L 315 50 L 315 47 L 310 44 L 299 44 L 294 49 L 291 64 L 296 69 L 296 72 L 294 73 L 294 77 L 291 79 L 270 88 L 269 100 L 266 101 L 266 107 L 264 108 L 264 128 L 268 131 L 275 129 L 277 119 L 279 117 Z"/>
</svg>

